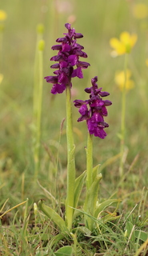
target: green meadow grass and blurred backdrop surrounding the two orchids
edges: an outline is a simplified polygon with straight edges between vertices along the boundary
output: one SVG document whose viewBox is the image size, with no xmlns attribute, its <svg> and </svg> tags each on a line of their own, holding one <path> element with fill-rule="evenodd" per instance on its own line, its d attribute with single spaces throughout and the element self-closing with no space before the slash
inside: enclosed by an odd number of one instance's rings
<svg viewBox="0 0 148 256">
<path fill-rule="evenodd" d="M 0 255 L 58 255 L 56 250 L 72 246 L 73 255 L 146 255 L 148 232 L 147 202 L 147 18 L 136 19 L 134 4 L 139 1 L 94 0 L 67 1 L 18 1 L 1 2 L 7 19 L 2 32 L 2 62 L 0 73 Z M 146 1 L 142 1 L 146 3 Z M 66 199 L 66 118 L 64 95 L 53 96 L 50 86 L 43 82 L 40 169 L 38 182 L 34 180 L 33 154 L 33 87 L 34 56 L 37 40 L 36 27 L 45 26 L 43 38 L 46 46 L 43 53 L 43 77 L 51 74 L 49 62 L 53 53 L 50 47 L 62 36 L 63 25 L 70 22 L 82 32 L 82 44 L 88 54 L 91 69 L 84 70 L 84 79 L 74 78 L 76 96 L 81 98 L 83 90 L 90 87 L 90 78 L 98 75 L 98 85 L 110 92 L 110 127 L 105 140 L 94 140 L 94 166 L 101 164 L 102 182 L 100 202 L 108 198 L 121 200 L 110 206 L 108 212 L 119 215 L 116 220 L 103 223 L 95 219 L 96 229 L 90 234 L 80 225 L 74 238 L 67 234 L 59 241 L 57 226 L 36 208 L 40 199 L 64 215 Z M 122 31 L 138 35 L 138 42 L 129 56 L 134 89 L 126 94 L 126 158 L 124 174 L 118 172 L 120 153 L 122 94 L 114 82 L 117 70 L 124 68 L 124 56 L 110 56 L 110 38 L 118 37 Z M 81 43 L 81 41 L 80 41 Z M 53 64 L 53 63 L 52 63 Z M 78 123 L 78 111 L 73 109 L 74 140 L 76 145 L 77 176 L 86 170 L 85 123 Z M 84 200 L 82 191 L 80 205 Z M 28 199 L 27 199 L 28 198 Z M 21 206 L 18 206 L 24 202 Z M 17 206 L 17 207 L 14 207 Z M 13 208 L 14 207 L 14 208 Z M 13 208 L 11 210 L 11 208 Z M 10 210 L 10 211 L 9 211 Z M 5 212 L 7 213 L 5 214 Z M 75 226 L 82 222 L 80 214 Z M 62 235 L 62 234 L 59 234 Z M 54 241 L 54 242 L 53 242 Z M 145 242 L 145 245 L 144 245 Z M 64 255 L 64 254 L 63 254 Z M 71 254 L 68 254 L 71 255 Z"/>
</svg>

